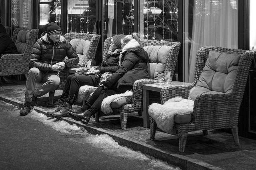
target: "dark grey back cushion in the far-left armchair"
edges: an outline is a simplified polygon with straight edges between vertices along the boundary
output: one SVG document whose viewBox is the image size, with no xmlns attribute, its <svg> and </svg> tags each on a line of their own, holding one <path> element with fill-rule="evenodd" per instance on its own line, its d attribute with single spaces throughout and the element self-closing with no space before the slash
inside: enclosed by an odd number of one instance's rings
<svg viewBox="0 0 256 170">
<path fill-rule="evenodd" d="M 26 49 L 26 41 L 28 39 L 29 30 L 20 30 L 17 35 L 15 45 L 17 47 L 18 53 L 24 53 Z"/>
</svg>

